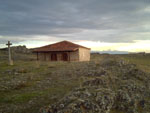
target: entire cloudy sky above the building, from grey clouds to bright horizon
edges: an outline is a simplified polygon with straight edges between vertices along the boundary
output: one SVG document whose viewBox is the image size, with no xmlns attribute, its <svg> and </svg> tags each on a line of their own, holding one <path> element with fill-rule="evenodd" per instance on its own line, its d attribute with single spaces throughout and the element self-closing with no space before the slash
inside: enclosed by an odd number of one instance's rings
<svg viewBox="0 0 150 113">
<path fill-rule="evenodd" d="M 150 52 L 150 0 L 0 0 L 0 47 L 8 40 Z"/>
</svg>

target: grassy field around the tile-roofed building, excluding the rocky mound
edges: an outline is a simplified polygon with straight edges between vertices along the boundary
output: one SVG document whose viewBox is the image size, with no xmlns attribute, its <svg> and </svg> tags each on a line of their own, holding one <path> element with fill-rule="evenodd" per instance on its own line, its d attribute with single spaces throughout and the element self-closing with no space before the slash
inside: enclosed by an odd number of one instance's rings
<svg viewBox="0 0 150 113">
<path fill-rule="evenodd" d="M 31 55 L 18 55 L 14 66 L 8 65 L 6 54 L 0 55 L 0 113 L 37 113 L 80 87 L 80 69 L 92 62 L 121 58 L 150 72 L 150 55 L 95 54 L 90 62 L 37 62 Z"/>
</svg>

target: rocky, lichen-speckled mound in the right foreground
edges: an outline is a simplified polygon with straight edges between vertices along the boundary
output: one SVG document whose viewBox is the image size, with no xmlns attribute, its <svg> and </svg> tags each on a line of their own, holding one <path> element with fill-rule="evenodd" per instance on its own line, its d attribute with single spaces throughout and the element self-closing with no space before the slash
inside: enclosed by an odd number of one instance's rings
<svg viewBox="0 0 150 113">
<path fill-rule="evenodd" d="M 150 113 L 149 73 L 109 58 L 82 67 L 82 85 L 41 113 Z"/>
</svg>

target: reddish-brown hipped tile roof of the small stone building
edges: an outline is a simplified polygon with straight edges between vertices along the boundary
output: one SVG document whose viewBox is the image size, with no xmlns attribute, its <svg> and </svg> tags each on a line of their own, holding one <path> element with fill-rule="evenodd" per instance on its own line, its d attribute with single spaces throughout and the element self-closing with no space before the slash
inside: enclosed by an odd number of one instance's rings
<svg viewBox="0 0 150 113">
<path fill-rule="evenodd" d="M 78 44 L 74 44 L 69 41 L 62 41 L 47 46 L 39 47 L 34 50 L 34 52 L 50 52 L 50 51 L 75 51 L 78 48 L 90 49 Z"/>
</svg>

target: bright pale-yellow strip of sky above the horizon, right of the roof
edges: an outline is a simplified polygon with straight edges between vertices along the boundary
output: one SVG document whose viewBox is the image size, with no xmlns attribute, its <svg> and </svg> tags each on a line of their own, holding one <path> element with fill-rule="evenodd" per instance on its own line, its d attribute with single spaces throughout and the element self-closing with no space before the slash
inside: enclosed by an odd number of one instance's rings
<svg viewBox="0 0 150 113">
<path fill-rule="evenodd" d="M 92 48 L 93 51 L 120 51 L 120 52 L 150 52 L 150 40 L 135 40 L 130 43 L 110 43 L 100 41 L 80 41 L 80 45 Z"/>
</svg>

